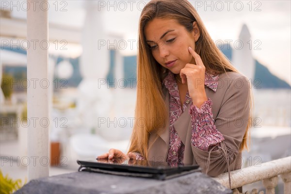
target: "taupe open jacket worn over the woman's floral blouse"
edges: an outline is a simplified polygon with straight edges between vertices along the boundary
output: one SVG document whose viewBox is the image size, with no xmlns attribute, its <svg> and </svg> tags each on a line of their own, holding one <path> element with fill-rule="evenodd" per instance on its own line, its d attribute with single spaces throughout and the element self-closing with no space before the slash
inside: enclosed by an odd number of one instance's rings
<svg viewBox="0 0 291 194">
<path fill-rule="evenodd" d="M 215 126 L 220 131 L 225 140 L 220 143 L 219 149 L 210 153 L 194 147 L 191 144 L 191 116 L 188 113 L 191 103 L 182 113 L 178 120 L 173 124 L 178 135 L 185 145 L 184 164 L 199 164 L 206 172 L 209 162 L 208 175 L 216 177 L 227 172 L 227 161 L 230 171 L 240 169 L 242 166 L 241 153 L 239 147 L 247 127 L 250 111 L 250 85 L 247 79 L 239 73 L 227 72 L 219 75 L 218 87 L 216 92 L 205 87 L 207 97 L 212 100 L 212 113 Z M 164 87 L 163 94 L 166 106 L 169 107 L 169 93 Z M 150 134 L 148 143 L 148 160 L 166 161 L 169 149 L 169 123 L 165 125 L 158 134 Z M 227 157 L 224 155 L 225 150 Z"/>
</svg>

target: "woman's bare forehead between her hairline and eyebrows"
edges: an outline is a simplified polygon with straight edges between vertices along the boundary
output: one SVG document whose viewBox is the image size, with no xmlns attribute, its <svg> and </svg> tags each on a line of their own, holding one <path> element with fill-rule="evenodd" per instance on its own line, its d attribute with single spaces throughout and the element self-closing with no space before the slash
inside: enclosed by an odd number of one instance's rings
<svg viewBox="0 0 291 194">
<path fill-rule="evenodd" d="M 176 19 L 155 18 L 146 24 L 144 29 L 146 40 L 159 39 L 163 33 L 169 30 L 183 28 Z"/>
</svg>

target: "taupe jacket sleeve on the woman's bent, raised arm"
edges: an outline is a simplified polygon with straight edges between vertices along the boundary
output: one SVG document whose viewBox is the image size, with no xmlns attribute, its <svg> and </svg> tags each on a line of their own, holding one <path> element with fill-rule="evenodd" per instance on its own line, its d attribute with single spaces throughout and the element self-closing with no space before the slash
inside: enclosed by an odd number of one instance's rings
<svg viewBox="0 0 291 194">
<path fill-rule="evenodd" d="M 225 84 L 228 88 L 214 121 L 217 131 L 224 137 L 224 140 L 218 143 L 218 149 L 208 151 L 199 149 L 196 143 L 195 146 L 191 145 L 195 161 L 203 172 L 208 170 L 208 175 L 212 177 L 227 172 L 227 166 L 235 161 L 247 128 L 250 113 L 250 86 L 247 79 L 239 75 L 231 79 L 227 86 Z M 237 84 L 238 80 L 242 84 Z"/>
</svg>

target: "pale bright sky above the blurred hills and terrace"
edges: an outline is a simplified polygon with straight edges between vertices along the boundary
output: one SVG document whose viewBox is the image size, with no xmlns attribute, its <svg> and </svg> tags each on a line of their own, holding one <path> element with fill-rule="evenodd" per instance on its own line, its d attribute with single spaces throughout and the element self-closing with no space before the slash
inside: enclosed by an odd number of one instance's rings
<svg viewBox="0 0 291 194">
<path fill-rule="evenodd" d="M 238 40 L 243 24 L 251 33 L 252 54 L 281 79 L 291 83 L 290 0 L 189 0 L 197 10 L 213 41 Z M 22 1 L 19 1 L 21 5 Z M 87 0 L 49 0 L 49 22 L 82 28 Z M 103 14 L 105 32 L 137 40 L 139 16 L 147 0 L 94 0 Z M 13 16 L 24 18 L 24 10 Z M 232 47 L 233 42 L 230 44 Z M 122 50 L 135 55 L 136 47 Z"/>
</svg>

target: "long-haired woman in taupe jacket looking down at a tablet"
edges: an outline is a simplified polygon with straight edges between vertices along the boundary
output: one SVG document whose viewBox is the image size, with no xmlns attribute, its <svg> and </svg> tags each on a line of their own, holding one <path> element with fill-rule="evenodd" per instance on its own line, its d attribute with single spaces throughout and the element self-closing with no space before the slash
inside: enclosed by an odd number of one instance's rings
<svg viewBox="0 0 291 194">
<path fill-rule="evenodd" d="M 129 153 L 110 149 L 99 158 L 199 164 L 210 176 L 241 168 L 250 86 L 187 0 L 151 0 L 143 9 L 137 77 L 144 84 Z"/>
</svg>

